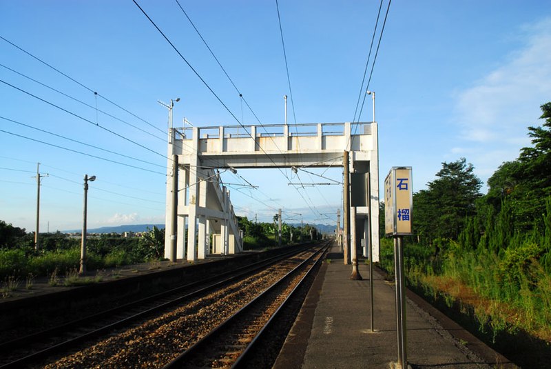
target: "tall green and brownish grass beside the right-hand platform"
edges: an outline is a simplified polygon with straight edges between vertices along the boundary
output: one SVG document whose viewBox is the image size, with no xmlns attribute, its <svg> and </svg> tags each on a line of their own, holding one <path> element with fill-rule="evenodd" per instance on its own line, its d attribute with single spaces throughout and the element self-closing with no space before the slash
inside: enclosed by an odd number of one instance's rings
<svg viewBox="0 0 551 369">
<path fill-rule="evenodd" d="M 481 330 L 526 330 L 551 341 L 551 276 L 539 263 L 542 248 L 526 237 L 496 253 L 464 250 L 448 241 L 444 252 L 417 244 L 404 247 L 404 271 L 410 286 L 448 305 L 470 304 Z M 393 271 L 391 241 L 381 243 L 381 266 Z"/>
</svg>

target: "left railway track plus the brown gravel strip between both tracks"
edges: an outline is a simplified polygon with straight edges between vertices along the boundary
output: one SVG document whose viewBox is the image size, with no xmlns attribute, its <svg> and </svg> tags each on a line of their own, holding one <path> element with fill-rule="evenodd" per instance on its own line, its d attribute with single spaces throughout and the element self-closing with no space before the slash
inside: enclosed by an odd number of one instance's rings
<svg viewBox="0 0 551 369">
<path fill-rule="evenodd" d="M 294 257 L 271 260 L 271 265 L 257 263 L 213 277 L 209 283 L 192 283 L 171 290 L 171 294 L 155 295 L 3 343 L 1 368 L 34 364 L 50 368 L 163 366 L 204 336 L 205 330 L 273 284 L 277 276 L 285 274 L 305 253 L 312 252 L 299 250 L 302 252 Z M 59 359 L 61 355 L 65 357 Z M 41 362 L 44 358 L 48 358 L 45 359 L 48 363 Z"/>
</svg>

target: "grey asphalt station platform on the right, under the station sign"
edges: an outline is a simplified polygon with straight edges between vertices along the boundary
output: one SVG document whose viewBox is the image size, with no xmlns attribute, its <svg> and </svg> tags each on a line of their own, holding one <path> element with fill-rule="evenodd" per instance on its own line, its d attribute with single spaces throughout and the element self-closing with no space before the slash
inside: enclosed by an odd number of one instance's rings
<svg viewBox="0 0 551 369">
<path fill-rule="evenodd" d="M 273 368 L 395 366 L 394 283 L 373 268 L 372 332 L 368 265 L 359 270 L 363 280 L 349 279 L 352 266 L 344 265 L 336 245 L 331 248 Z M 410 291 L 406 348 L 410 368 L 517 368 Z"/>
</svg>

